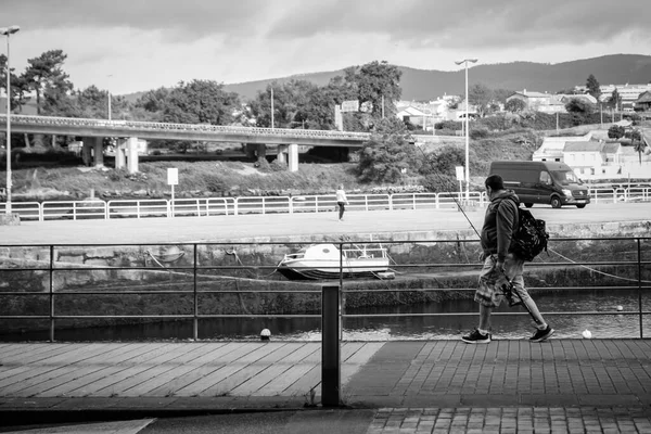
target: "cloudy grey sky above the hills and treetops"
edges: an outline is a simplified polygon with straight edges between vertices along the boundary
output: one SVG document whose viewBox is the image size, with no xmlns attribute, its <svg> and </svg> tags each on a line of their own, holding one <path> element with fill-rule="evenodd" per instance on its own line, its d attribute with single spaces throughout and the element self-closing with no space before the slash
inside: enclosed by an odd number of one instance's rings
<svg viewBox="0 0 651 434">
<path fill-rule="evenodd" d="M 29 59 L 63 50 L 76 89 L 113 94 L 372 61 L 457 71 L 455 61 L 469 58 L 649 55 L 649 0 L 0 0 L 0 27 L 21 27 L 10 39 L 18 74 Z"/>
</svg>

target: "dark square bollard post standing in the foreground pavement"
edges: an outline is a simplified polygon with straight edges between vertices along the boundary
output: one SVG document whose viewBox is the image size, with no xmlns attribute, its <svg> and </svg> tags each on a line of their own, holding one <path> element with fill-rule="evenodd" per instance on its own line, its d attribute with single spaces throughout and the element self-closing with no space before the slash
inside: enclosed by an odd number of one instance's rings
<svg viewBox="0 0 651 434">
<path fill-rule="evenodd" d="M 321 405 L 341 404 L 340 288 L 321 288 Z"/>
</svg>

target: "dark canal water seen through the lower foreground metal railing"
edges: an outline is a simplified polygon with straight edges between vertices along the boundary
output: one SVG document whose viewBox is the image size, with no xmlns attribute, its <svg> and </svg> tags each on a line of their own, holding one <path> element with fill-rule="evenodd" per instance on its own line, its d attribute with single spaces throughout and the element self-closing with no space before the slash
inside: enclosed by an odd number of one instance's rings
<svg viewBox="0 0 651 434">
<path fill-rule="evenodd" d="M 651 311 L 651 296 L 642 297 L 642 311 Z M 637 290 L 559 292 L 534 295 L 540 311 L 556 330 L 554 336 L 580 339 L 585 330 L 595 339 L 640 337 L 639 299 Z M 477 326 L 477 304 L 472 299 L 454 299 L 390 307 L 346 309 L 346 315 L 373 317 L 344 318 L 344 341 L 456 340 Z M 582 312 L 601 315 L 584 315 Z M 531 336 L 534 323 L 522 307 L 509 308 L 506 303 L 492 320 L 494 339 L 515 340 Z M 391 315 L 398 314 L 400 316 Z M 434 316 L 419 316 L 436 314 Z M 515 315 L 505 315 L 515 314 Z M 414 315 L 414 316 L 408 316 Z M 651 315 L 641 320 L 643 337 L 651 336 Z M 202 319 L 200 340 L 259 340 L 260 331 L 269 329 L 272 341 L 320 341 L 320 318 L 233 318 Z M 142 324 L 58 328 L 60 342 L 128 342 L 186 341 L 192 339 L 192 321 L 165 321 Z M 46 341 L 49 332 L 0 334 L 0 341 Z"/>
</svg>

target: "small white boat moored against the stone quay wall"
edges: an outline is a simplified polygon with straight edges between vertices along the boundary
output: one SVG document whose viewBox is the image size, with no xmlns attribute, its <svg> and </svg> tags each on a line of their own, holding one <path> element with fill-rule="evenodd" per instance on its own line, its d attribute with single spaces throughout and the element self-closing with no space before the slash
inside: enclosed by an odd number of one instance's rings
<svg viewBox="0 0 651 434">
<path fill-rule="evenodd" d="M 278 264 L 277 270 L 291 280 L 378 277 L 388 269 L 384 247 L 345 248 L 341 254 L 334 244 L 315 244 L 291 253 Z"/>
</svg>

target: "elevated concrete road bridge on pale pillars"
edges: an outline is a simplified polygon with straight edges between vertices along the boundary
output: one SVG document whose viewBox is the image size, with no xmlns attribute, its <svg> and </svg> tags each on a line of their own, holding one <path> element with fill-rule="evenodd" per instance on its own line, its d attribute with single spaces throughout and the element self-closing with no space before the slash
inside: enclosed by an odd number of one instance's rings
<svg viewBox="0 0 651 434">
<path fill-rule="evenodd" d="M 266 154 L 266 145 L 279 146 L 278 158 L 286 162 L 291 171 L 298 168 L 298 145 L 360 148 L 368 141 L 367 132 L 329 131 L 314 129 L 259 128 L 195 124 L 168 124 L 136 120 L 86 119 L 51 116 L 11 116 L 12 132 L 33 135 L 77 136 L 84 138 L 84 155 L 94 165 L 103 165 L 102 139 L 127 138 L 116 151 L 116 168 L 138 171 L 138 139 L 194 140 L 247 143 L 258 157 Z M 0 131 L 7 131 L 7 117 L 0 117 Z"/>
</svg>

